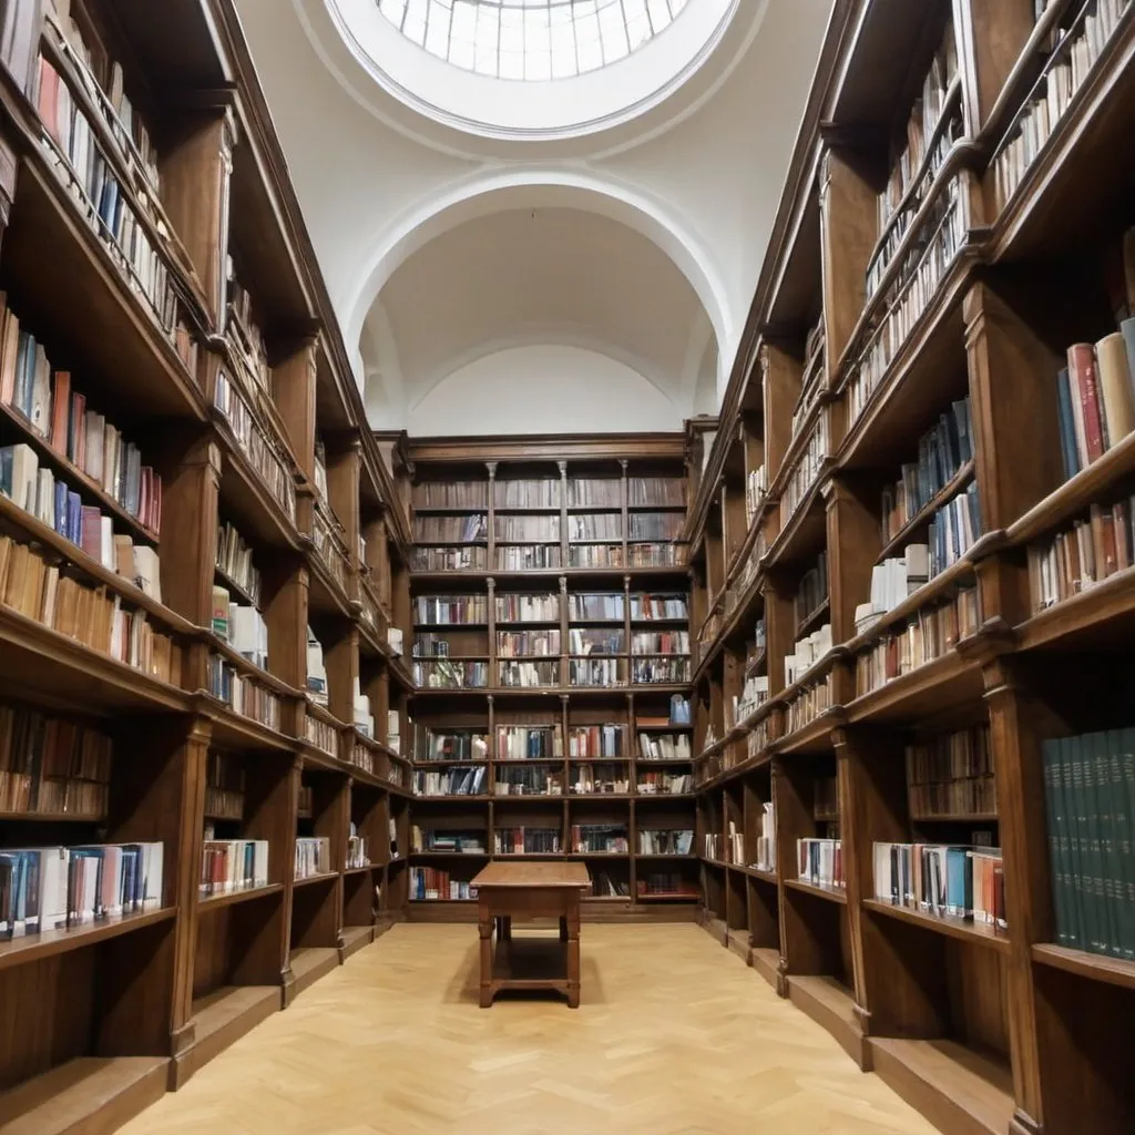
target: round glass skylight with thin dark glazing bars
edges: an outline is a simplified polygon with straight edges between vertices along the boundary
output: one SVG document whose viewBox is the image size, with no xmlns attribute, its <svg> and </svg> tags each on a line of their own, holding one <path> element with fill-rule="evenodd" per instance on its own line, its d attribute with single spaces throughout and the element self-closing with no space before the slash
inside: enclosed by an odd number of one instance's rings
<svg viewBox="0 0 1135 1135">
<path fill-rule="evenodd" d="M 571 78 L 624 59 L 688 0 L 376 0 L 406 39 L 493 78 Z"/>
</svg>

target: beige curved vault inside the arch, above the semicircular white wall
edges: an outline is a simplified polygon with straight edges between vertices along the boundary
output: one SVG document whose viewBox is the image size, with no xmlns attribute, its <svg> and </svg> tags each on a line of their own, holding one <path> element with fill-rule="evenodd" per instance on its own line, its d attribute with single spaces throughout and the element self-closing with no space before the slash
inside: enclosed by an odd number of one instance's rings
<svg viewBox="0 0 1135 1135">
<path fill-rule="evenodd" d="M 637 228 L 524 201 L 445 228 L 389 275 L 364 320 L 368 404 L 409 414 L 484 359 L 555 346 L 633 371 L 679 426 L 716 343 L 690 280 Z"/>
</svg>

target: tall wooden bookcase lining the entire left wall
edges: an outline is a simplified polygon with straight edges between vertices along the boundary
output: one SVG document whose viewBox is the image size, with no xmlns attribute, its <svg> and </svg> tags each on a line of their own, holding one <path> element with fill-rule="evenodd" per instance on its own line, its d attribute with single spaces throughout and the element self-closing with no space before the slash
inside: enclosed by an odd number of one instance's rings
<svg viewBox="0 0 1135 1135">
<path fill-rule="evenodd" d="M 0 1115 L 109 1130 L 404 916 L 409 528 L 234 6 L 2 20 L 0 873 L 111 882 L 0 935 Z"/>
</svg>

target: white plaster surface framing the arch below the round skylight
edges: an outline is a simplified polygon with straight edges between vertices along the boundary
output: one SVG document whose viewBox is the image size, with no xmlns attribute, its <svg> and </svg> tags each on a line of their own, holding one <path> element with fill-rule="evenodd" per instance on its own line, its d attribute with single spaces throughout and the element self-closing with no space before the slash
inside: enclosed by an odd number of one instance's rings
<svg viewBox="0 0 1135 1135">
<path fill-rule="evenodd" d="M 289 0 L 237 0 L 360 385 L 376 363 L 360 350 L 359 299 L 381 283 L 373 276 L 384 250 L 406 243 L 437 202 L 482 185 L 511 184 L 522 193 L 527 184 L 547 186 L 562 175 L 568 184 L 602 183 L 613 200 L 634 208 L 657 203 L 659 222 L 669 219 L 674 238 L 720 288 L 717 329 L 728 326 L 715 384 L 720 400 L 832 2 L 768 0 L 748 53 L 708 102 L 646 141 L 623 140 L 619 152 L 598 153 L 587 151 L 586 140 L 521 150 L 472 137 L 457 138 L 460 149 L 427 142 L 415 133 L 422 120 L 369 76 L 364 94 L 353 90 L 362 73 L 351 72 L 342 43 L 323 53 L 313 45 L 304 20 L 319 22 L 323 0 L 296 0 L 299 12 Z M 510 195 L 504 207 L 516 203 Z M 384 270 L 396 268 L 390 262 Z M 398 328 L 393 331 L 397 338 Z M 406 402 L 413 403 L 412 389 Z M 588 428 L 599 426 L 592 420 Z"/>
</svg>

